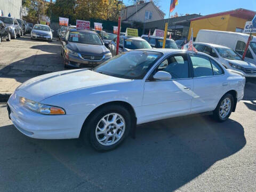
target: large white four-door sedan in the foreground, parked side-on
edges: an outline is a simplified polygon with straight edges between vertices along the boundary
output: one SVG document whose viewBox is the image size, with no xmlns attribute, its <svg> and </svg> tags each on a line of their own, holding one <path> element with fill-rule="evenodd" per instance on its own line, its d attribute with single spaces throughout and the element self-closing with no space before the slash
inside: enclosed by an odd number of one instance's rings
<svg viewBox="0 0 256 192">
<path fill-rule="evenodd" d="M 82 137 L 97 150 L 110 150 L 136 124 L 209 111 L 225 121 L 243 98 L 244 85 L 243 76 L 204 53 L 135 50 L 93 71 L 32 78 L 15 90 L 7 109 L 28 137 Z"/>
</svg>

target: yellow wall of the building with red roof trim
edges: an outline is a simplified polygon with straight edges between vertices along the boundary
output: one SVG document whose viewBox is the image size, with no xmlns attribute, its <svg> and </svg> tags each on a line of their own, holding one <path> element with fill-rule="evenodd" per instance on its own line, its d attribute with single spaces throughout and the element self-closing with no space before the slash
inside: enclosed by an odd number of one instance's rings
<svg viewBox="0 0 256 192">
<path fill-rule="evenodd" d="M 224 19 L 221 19 L 224 18 Z M 191 28 L 193 28 L 193 37 L 196 37 L 197 33 L 201 29 L 209 30 L 223 30 L 226 31 L 228 28 L 230 15 L 220 15 L 212 18 L 198 19 L 190 22 L 190 29 L 188 39 L 191 36 Z"/>
</svg>

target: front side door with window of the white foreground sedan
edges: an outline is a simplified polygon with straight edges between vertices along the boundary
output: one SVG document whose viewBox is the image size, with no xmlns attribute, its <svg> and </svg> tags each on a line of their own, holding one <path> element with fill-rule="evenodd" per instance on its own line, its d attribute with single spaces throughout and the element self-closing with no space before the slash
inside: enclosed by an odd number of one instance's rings
<svg viewBox="0 0 256 192">
<path fill-rule="evenodd" d="M 157 71 L 170 73 L 171 80 L 152 78 Z M 190 114 L 193 97 L 191 66 L 186 53 L 165 58 L 145 82 L 142 122 Z"/>
</svg>

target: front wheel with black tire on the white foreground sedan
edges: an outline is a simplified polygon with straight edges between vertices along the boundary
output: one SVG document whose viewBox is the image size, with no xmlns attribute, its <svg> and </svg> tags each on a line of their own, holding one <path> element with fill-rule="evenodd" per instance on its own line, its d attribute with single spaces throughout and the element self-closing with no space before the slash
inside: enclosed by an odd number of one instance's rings
<svg viewBox="0 0 256 192">
<path fill-rule="evenodd" d="M 90 115 L 82 128 L 82 139 L 98 151 L 119 146 L 131 129 L 132 118 L 127 109 L 119 105 L 102 107 Z"/>
</svg>

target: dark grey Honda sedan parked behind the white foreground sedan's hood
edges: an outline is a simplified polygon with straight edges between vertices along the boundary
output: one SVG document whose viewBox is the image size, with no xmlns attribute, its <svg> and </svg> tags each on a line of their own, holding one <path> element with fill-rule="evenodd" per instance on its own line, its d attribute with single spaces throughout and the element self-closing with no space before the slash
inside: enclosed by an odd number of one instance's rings
<svg viewBox="0 0 256 192">
<path fill-rule="evenodd" d="M 111 58 L 110 51 L 94 31 L 68 29 L 60 44 L 65 68 L 93 68 Z"/>
</svg>

